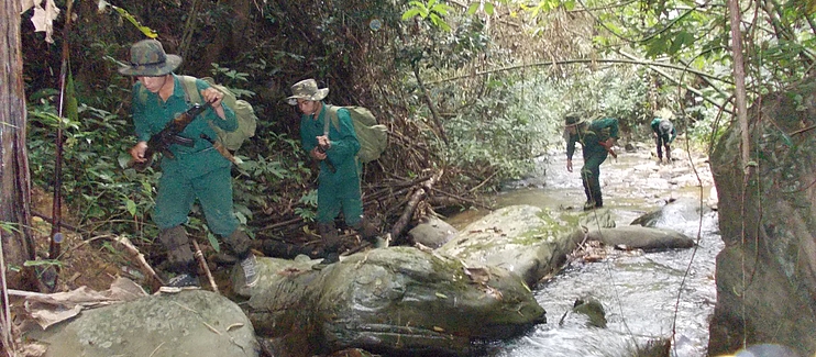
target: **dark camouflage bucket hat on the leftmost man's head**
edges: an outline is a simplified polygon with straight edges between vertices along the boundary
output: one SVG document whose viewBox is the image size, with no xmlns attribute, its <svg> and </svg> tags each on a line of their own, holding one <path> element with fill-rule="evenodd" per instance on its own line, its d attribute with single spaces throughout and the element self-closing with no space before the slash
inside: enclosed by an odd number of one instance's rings
<svg viewBox="0 0 816 357">
<path fill-rule="evenodd" d="M 158 77 L 172 72 L 180 64 L 181 57 L 166 54 L 161 42 L 142 40 L 131 46 L 130 66 L 120 67 L 119 72 L 125 76 Z"/>
</svg>

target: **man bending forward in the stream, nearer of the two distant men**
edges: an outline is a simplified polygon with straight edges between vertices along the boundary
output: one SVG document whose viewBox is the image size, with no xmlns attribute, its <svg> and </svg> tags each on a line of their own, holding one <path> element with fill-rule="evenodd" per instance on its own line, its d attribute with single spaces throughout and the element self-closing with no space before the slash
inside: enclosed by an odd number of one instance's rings
<svg viewBox="0 0 816 357">
<path fill-rule="evenodd" d="M 613 150 L 618 140 L 618 120 L 604 118 L 587 123 L 577 113 L 566 114 L 564 129 L 566 140 L 566 170 L 572 172 L 572 155 L 575 153 L 575 143 L 581 143 L 584 156 L 584 167 L 581 168 L 581 180 L 584 185 L 586 203 L 584 210 L 604 207 L 600 194 L 600 164 L 608 154 L 617 156 Z"/>
</svg>

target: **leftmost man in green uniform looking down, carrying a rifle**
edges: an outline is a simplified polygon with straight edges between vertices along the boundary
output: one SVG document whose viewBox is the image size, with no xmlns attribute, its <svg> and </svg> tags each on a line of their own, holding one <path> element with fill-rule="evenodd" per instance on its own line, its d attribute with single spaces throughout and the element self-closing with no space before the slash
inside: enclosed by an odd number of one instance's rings
<svg viewBox="0 0 816 357">
<path fill-rule="evenodd" d="M 181 64 L 181 57 L 166 54 L 162 43 L 155 40 L 133 44 L 130 54 L 130 65 L 119 68 L 119 72 L 136 78 L 131 105 L 139 143 L 130 154 L 134 161 L 144 163 L 151 136 L 186 111 L 190 103 L 183 83 L 173 74 Z M 178 140 L 188 145 L 169 145 L 172 157 L 167 155 L 162 158 L 162 177 L 153 213 L 153 221 L 159 228 L 158 238 L 167 248 L 169 269 L 176 274 L 167 286 L 198 286 L 198 268 L 183 226 L 196 200 L 201 205 L 209 228 L 221 236 L 238 256 L 244 281 L 252 286 L 257 281 L 255 256 L 250 250 L 251 238 L 239 228 L 233 212 L 232 164 L 208 140 L 217 137 L 211 125 L 230 132 L 238 127 L 238 121 L 235 113 L 222 105 L 222 92 L 200 79 L 196 80 L 196 87 L 211 110 L 201 113 L 178 135 Z"/>
</svg>

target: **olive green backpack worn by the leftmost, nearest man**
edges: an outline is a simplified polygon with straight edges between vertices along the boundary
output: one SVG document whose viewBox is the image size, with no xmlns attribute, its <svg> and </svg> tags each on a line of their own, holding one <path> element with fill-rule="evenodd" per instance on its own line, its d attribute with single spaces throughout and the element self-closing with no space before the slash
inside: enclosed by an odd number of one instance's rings
<svg viewBox="0 0 816 357">
<path fill-rule="evenodd" d="M 178 78 L 181 81 L 181 87 L 184 87 L 185 93 L 187 94 L 187 101 L 198 104 L 203 103 L 201 93 L 199 93 L 198 88 L 196 87 L 196 77 L 178 76 Z M 238 129 L 234 132 L 224 132 L 216 125 L 210 125 L 218 134 L 218 141 L 221 145 L 231 152 L 234 152 L 241 147 L 241 144 L 243 144 L 244 141 L 255 136 L 255 126 L 257 125 L 257 115 L 255 115 L 255 110 L 247 101 L 235 98 L 235 94 L 230 91 L 229 88 L 216 83 L 214 79 L 205 77 L 201 78 L 201 80 L 224 93 L 224 105 L 235 112 L 235 116 L 238 118 Z"/>
</svg>

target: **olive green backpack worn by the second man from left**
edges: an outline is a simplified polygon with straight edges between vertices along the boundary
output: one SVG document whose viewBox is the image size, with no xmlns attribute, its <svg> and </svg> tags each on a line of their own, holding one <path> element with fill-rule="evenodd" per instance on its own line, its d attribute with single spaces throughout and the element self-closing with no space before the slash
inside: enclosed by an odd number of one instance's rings
<svg viewBox="0 0 816 357">
<path fill-rule="evenodd" d="M 379 158 L 379 155 L 385 152 L 388 146 L 388 127 L 382 124 L 377 124 L 377 119 L 366 108 L 363 107 L 335 107 L 326 105 L 326 113 L 329 115 L 329 120 L 326 121 L 324 132 L 329 131 L 329 121 L 331 121 L 334 129 L 340 131 L 340 119 L 338 119 L 338 110 L 345 109 L 351 115 L 351 121 L 354 124 L 354 132 L 357 134 L 357 142 L 360 142 L 360 152 L 357 152 L 357 158 L 361 163 L 370 163 Z"/>
</svg>

